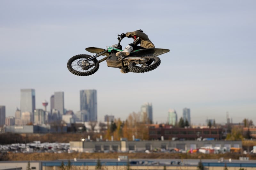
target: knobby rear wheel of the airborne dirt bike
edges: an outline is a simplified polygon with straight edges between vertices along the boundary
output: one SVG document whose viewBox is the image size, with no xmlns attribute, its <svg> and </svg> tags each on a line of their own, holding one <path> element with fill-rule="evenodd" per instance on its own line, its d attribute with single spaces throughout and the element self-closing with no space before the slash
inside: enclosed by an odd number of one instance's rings
<svg viewBox="0 0 256 170">
<path fill-rule="evenodd" d="M 146 61 L 138 61 L 136 63 L 130 62 L 130 64 L 128 65 L 129 70 L 134 73 L 144 73 L 154 70 L 161 63 L 160 58 L 157 56 L 148 55 L 143 56 L 142 58 L 145 58 Z"/>
</svg>

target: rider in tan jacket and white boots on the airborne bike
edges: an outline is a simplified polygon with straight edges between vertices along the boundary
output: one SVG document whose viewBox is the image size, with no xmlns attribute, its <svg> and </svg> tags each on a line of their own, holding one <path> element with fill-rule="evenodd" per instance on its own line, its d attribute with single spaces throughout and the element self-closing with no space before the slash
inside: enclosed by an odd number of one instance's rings
<svg viewBox="0 0 256 170">
<path fill-rule="evenodd" d="M 132 37 L 133 38 L 133 43 L 126 46 L 123 51 L 117 52 L 116 56 L 118 56 L 118 57 L 122 57 L 122 55 L 123 56 L 130 55 L 132 50 L 145 49 L 145 48 L 155 48 L 154 44 L 149 40 L 148 35 L 143 33 L 142 30 L 136 30 L 136 31 L 133 31 L 133 32 L 122 33 L 120 35 L 120 38 L 123 39 L 124 37 L 128 37 L 128 38 Z M 139 38 L 139 39 L 137 39 L 137 38 Z M 140 46 L 138 46 L 137 44 L 140 44 Z M 127 68 L 122 68 L 121 72 L 122 73 L 128 73 L 129 70 Z"/>
</svg>

